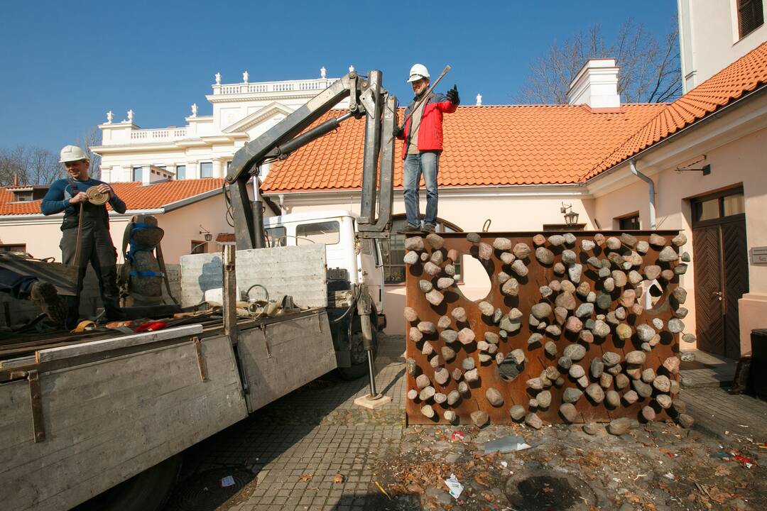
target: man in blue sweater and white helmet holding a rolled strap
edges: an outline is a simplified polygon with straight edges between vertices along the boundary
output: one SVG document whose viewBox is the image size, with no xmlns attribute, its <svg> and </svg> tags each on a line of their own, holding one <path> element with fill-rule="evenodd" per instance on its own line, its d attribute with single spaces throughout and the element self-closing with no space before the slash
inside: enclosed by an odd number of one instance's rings
<svg viewBox="0 0 767 511">
<path fill-rule="evenodd" d="M 74 328 L 80 318 L 80 293 L 88 261 L 98 277 L 107 319 L 123 319 L 120 292 L 117 290 L 117 250 L 109 234 L 107 207 L 104 204 L 92 204 L 86 191 L 95 186 L 98 192 L 108 194 L 109 205 L 118 213 L 125 212 L 125 203 L 117 197 L 110 185 L 91 179 L 88 175 L 91 162 L 79 147 L 64 146 L 59 161 L 67 168 L 67 177 L 51 185 L 40 210 L 43 215 L 64 211 L 64 221 L 61 222 L 61 260 L 64 264 L 80 268 L 77 295 L 67 296 L 66 326 Z"/>
</svg>

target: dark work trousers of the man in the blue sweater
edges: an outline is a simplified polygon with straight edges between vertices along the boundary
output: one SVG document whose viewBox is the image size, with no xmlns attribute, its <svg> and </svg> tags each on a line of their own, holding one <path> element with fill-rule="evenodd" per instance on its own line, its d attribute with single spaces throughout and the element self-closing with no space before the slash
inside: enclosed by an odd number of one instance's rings
<svg viewBox="0 0 767 511">
<path fill-rule="evenodd" d="M 75 296 L 67 296 L 67 327 L 76 326 L 80 318 L 80 293 L 88 263 L 96 272 L 101 293 L 101 301 L 107 319 L 123 319 L 120 310 L 120 292 L 117 290 L 117 250 L 112 244 L 109 227 L 104 224 L 104 214 L 100 208 L 84 208 L 83 224 L 80 234 L 80 255 L 77 265 L 80 267 L 79 285 Z M 74 264 L 77 252 L 77 227 L 64 229 L 61 236 L 61 259 L 64 264 Z"/>
</svg>

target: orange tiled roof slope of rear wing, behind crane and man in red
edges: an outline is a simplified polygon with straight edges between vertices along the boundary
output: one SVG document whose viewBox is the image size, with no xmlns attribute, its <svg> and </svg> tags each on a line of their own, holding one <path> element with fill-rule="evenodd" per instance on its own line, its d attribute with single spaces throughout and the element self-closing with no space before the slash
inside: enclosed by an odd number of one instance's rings
<svg viewBox="0 0 767 511">
<path fill-rule="evenodd" d="M 664 105 L 628 104 L 617 112 L 584 106 L 459 106 L 444 118 L 440 186 L 571 183 L 604 158 Z M 329 116 L 323 116 L 318 123 Z M 400 113 L 400 119 L 402 118 Z M 364 120 L 275 162 L 263 192 L 360 188 Z M 402 186 L 402 142 L 397 140 L 394 186 Z"/>
</svg>

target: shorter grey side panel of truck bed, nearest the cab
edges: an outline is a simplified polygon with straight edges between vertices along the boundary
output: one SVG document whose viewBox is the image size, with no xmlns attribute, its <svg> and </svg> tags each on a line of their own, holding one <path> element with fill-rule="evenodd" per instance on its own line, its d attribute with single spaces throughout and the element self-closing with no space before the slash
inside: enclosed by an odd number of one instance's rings
<svg viewBox="0 0 767 511">
<path fill-rule="evenodd" d="M 328 314 L 248 329 L 239 335 L 240 362 L 258 410 L 337 367 Z"/>
</svg>

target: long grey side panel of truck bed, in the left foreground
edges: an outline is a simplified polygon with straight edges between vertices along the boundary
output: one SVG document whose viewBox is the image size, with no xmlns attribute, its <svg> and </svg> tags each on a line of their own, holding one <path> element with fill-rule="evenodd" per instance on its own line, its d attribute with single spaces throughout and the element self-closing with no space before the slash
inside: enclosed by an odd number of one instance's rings
<svg viewBox="0 0 767 511">
<path fill-rule="evenodd" d="M 0 385 L 0 485 L 8 509 L 70 509 L 247 416 L 232 346 L 202 341 L 41 375 L 46 440 L 26 382 Z M 85 398 L 85 399 L 84 399 Z"/>
</svg>

